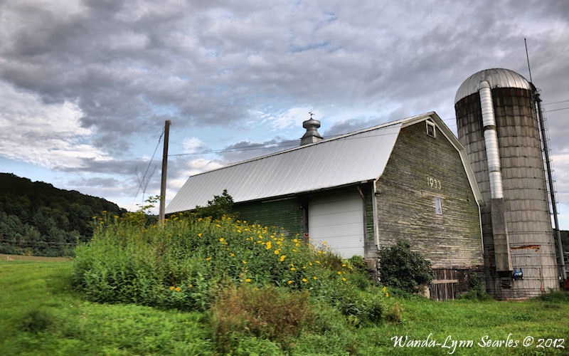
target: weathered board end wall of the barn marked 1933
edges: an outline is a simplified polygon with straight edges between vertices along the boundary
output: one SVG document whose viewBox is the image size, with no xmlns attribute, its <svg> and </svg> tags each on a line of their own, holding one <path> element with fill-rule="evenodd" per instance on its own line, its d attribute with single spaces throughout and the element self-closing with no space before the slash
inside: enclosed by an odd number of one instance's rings
<svg viewBox="0 0 569 356">
<path fill-rule="evenodd" d="M 403 128 L 376 189 L 381 246 L 408 239 L 435 267 L 482 265 L 479 207 L 459 153 L 440 131 L 428 136 L 425 122 Z"/>
</svg>

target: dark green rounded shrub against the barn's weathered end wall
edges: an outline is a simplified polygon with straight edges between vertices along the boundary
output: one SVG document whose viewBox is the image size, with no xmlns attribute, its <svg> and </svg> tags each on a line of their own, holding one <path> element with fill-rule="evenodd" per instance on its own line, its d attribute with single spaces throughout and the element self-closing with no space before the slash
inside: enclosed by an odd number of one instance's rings
<svg viewBox="0 0 569 356">
<path fill-rule="evenodd" d="M 411 251 L 409 241 L 398 240 L 394 246 L 379 251 L 379 278 L 385 286 L 416 293 L 421 285 L 432 281 L 430 261 Z"/>
</svg>

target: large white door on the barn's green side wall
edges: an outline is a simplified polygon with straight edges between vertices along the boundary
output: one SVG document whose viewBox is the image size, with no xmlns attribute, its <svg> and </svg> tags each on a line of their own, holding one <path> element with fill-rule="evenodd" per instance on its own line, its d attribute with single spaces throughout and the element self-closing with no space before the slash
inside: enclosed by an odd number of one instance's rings
<svg viewBox="0 0 569 356">
<path fill-rule="evenodd" d="M 308 226 L 315 246 L 326 241 L 343 258 L 363 256 L 363 202 L 355 189 L 311 197 Z"/>
</svg>

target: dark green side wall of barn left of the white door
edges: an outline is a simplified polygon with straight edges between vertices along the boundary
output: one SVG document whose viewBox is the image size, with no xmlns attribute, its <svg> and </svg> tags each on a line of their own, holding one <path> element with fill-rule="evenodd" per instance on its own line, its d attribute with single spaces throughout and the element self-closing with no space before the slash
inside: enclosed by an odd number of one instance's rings
<svg viewBox="0 0 569 356">
<path fill-rule="evenodd" d="M 302 204 L 297 198 L 240 203 L 235 204 L 234 210 L 238 211 L 239 219 L 283 227 L 287 236 L 304 234 Z"/>
</svg>

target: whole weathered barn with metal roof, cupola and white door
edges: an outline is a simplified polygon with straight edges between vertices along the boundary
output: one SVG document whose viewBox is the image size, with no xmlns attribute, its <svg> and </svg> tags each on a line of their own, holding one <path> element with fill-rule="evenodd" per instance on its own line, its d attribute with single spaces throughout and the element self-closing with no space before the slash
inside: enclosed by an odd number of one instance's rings
<svg viewBox="0 0 569 356">
<path fill-rule="evenodd" d="M 464 147 L 435 112 L 323 139 L 188 178 L 166 213 L 205 206 L 223 189 L 240 218 L 285 228 L 376 267 L 381 246 L 408 239 L 435 270 L 434 298 L 483 269 L 484 204 Z"/>
</svg>

